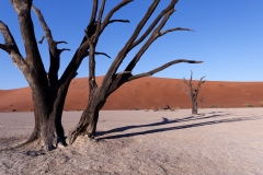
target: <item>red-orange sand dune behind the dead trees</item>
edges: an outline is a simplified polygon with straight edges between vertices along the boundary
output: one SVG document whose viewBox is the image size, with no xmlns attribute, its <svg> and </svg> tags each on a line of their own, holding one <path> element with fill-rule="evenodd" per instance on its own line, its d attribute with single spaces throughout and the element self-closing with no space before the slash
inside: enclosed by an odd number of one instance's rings
<svg viewBox="0 0 263 175">
<path fill-rule="evenodd" d="M 100 84 L 102 77 L 96 79 Z M 196 84 L 197 81 L 194 81 Z M 190 108 L 188 96 L 175 85 L 185 85 L 179 79 L 142 78 L 124 84 L 108 98 L 103 109 L 151 109 L 164 105 L 176 108 Z M 205 97 L 204 107 L 245 107 L 251 104 L 261 106 L 263 82 L 222 82 L 207 81 L 203 84 L 199 96 Z M 69 88 L 65 110 L 84 109 L 88 103 L 88 79 L 75 79 Z M 30 88 L 0 90 L 0 112 L 32 110 Z"/>
</svg>

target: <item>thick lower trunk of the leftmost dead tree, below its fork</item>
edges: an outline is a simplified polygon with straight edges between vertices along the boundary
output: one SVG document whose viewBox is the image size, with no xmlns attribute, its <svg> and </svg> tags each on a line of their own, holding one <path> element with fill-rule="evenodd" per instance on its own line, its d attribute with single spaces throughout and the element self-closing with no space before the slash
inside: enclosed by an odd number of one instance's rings
<svg viewBox="0 0 263 175">
<path fill-rule="evenodd" d="M 48 151 L 55 149 L 59 142 L 66 145 L 65 131 L 61 125 L 66 93 L 61 93 L 61 90 L 36 89 L 33 90 L 32 94 L 35 127 L 25 143 L 39 139 L 42 145 Z"/>
</svg>

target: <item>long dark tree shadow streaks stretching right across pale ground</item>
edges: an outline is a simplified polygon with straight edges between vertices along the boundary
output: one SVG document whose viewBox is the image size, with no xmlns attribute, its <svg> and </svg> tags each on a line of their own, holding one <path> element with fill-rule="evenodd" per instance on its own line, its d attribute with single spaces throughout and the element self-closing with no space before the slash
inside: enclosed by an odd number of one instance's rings
<svg viewBox="0 0 263 175">
<path fill-rule="evenodd" d="M 139 135 L 148 135 L 148 133 L 163 132 L 163 131 L 178 130 L 178 129 L 187 129 L 187 128 L 209 126 L 209 125 L 216 125 L 216 124 L 227 124 L 227 122 L 237 122 L 237 121 L 245 121 L 245 120 L 255 120 L 255 119 L 262 119 L 263 118 L 263 116 L 236 117 L 236 118 L 227 118 L 227 119 L 220 119 L 219 118 L 219 117 L 226 117 L 226 116 L 229 116 L 229 115 L 230 114 L 205 116 L 205 114 L 201 114 L 198 116 L 190 116 L 190 117 L 174 119 L 174 120 L 169 120 L 168 118 L 162 117 L 163 119 L 160 122 L 146 124 L 146 125 L 132 125 L 132 126 L 125 126 L 125 127 L 111 129 L 111 130 L 107 130 L 107 131 L 98 131 L 96 136 L 100 137 L 100 138 L 98 138 L 98 140 L 118 139 L 118 138 L 133 137 L 133 136 L 139 136 Z M 132 132 L 132 133 L 121 133 L 121 135 L 102 137 L 102 136 L 107 135 L 107 133 L 122 132 L 122 131 L 129 130 L 129 129 L 135 129 L 135 128 L 165 126 L 165 125 L 170 125 L 170 124 L 195 121 L 195 120 L 203 120 L 203 119 L 214 119 L 214 120 L 188 124 L 188 125 L 181 125 L 181 126 L 174 126 L 174 127 L 168 127 L 168 128 L 150 129 L 150 130 L 145 130 L 145 131 Z"/>
</svg>

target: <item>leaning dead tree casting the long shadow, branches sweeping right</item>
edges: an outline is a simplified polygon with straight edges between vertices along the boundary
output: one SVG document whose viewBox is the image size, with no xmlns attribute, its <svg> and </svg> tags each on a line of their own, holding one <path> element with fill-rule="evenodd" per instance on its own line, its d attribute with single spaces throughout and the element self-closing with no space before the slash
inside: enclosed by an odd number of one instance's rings
<svg viewBox="0 0 263 175">
<path fill-rule="evenodd" d="M 132 2 L 132 0 L 123 0 L 118 5 L 112 9 L 104 20 L 103 10 L 105 5 L 105 1 L 102 1 L 101 8 L 98 11 L 98 0 L 93 0 L 93 11 L 92 11 L 92 20 L 91 23 L 96 25 L 95 32 L 93 35 L 89 35 L 87 33 L 87 40 L 89 43 L 90 51 L 89 51 L 89 88 L 90 88 L 90 96 L 89 96 L 89 104 L 83 112 L 79 124 L 76 128 L 69 133 L 68 142 L 71 144 L 76 138 L 80 135 L 88 135 L 89 138 L 95 137 L 96 124 L 99 119 L 99 112 L 103 107 L 106 102 L 106 98 L 116 91 L 121 85 L 128 81 L 133 81 L 139 78 L 152 75 L 172 65 L 186 62 L 186 63 L 201 63 L 202 61 L 194 61 L 194 60 L 186 60 L 186 59 L 178 59 L 164 63 L 163 66 L 156 68 L 153 70 L 133 74 L 133 70 L 136 67 L 137 62 L 140 60 L 141 56 L 145 51 L 150 47 L 150 45 L 160 36 L 163 36 L 170 32 L 174 31 L 192 31 L 190 28 L 182 28 L 182 27 L 174 27 L 162 31 L 164 24 L 175 11 L 174 7 L 178 3 L 178 0 L 170 0 L 169 4 L 155 18 L 155 20 L 150 23 L 149 26 L 146 26 L 149 18 L 153 14 L 156 8 L 158 7 L 160 0 L 153 0 L 150 4 L 148 11 L 142 16 L 140 22 L 138 23 L 137 27 L 135 28 L 134 33 L 125 44 L 125 46 L 119 50 L 118 55 L 115 57 L 112 66 L 108 68 L 104 80 L 100 86 L 98 86 L 95 81 L 95 48 L 98 39 L 108 23 L 113 22 L 126 22 L 126 20 L 111 20 L 111 16 L 118 11 L 124 4 Z M 142 32 L 142 28 L 146 27 L 146 31 Z M 141 35 L 140 35 L 141 33 Z M 142 42 L 145 42 L 142 44 Z M 130 60 L 128 66 L 122 71 L 117 72 L 121 63 L 126 58 L 126 55 L 133 50 L 136 46 L 142 44 L 140 46 L 138 52 Z"/>
</svg>

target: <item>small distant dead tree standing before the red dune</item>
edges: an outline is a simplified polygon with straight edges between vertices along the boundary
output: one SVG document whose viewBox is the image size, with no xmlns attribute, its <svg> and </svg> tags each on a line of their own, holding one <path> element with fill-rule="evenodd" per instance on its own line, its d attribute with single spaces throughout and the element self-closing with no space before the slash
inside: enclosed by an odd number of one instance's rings
<svg viewBox="0 0 263 175">
<path fill-rule="evenodd" d="M 204 84 L 206 81 L 203 80 L 205 77 L 201 78 L 198 84 L 197 84 L 197 89 L 195 89 L 195 86 L 192 83 L 193 80 L 193 72 L 191 71 L 191 78 L 190 80 L 185 80 L 185 78 L 183 79 L 183 82 L 188 86 L 190 90 L 184 89 L 181 85 L 178 85 L 178 88 L 182 89 L 191 98 L 192 102 L 192 114 L 197 114 L 197 96 L 201 90 L 201 85 Z"/>
</svg>

